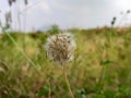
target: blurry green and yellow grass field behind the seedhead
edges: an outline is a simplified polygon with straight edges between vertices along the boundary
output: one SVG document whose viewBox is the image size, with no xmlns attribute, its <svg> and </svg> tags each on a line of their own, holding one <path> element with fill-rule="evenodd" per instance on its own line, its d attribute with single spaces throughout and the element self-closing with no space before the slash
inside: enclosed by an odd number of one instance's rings
<svg viewBox="0 0 131 98">
<path fill-rule="evenodd" d="M 131 27 L 70 32 L 76 41 L 67 65 L 74 97 L 131 98 Z M 61 68 L 44 50 L 50 35 L 10 33 L 16 45 L 0 35 L 0 98 L 70 98 Z"/>
</svg>

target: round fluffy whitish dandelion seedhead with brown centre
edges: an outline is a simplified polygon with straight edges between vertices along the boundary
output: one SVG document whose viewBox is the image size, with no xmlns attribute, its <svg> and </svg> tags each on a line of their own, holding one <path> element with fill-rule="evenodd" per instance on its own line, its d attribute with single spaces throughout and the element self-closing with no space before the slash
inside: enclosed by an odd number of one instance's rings
<svg viewBox="0 0 131 98">
<path fill-rule="evenodd" d="M 73 60 L 75 50 L 74 36 L 70 33 L 61 33 L 47 38 L 45 45 L 47 57 L 63 65 Z"/>
</svg>

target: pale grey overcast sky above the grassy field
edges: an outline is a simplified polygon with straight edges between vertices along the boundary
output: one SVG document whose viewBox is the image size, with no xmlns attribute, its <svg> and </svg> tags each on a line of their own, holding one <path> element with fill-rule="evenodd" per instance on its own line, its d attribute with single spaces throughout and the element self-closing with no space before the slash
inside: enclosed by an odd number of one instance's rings
<svg viewBox="0 0 131 98">
<path fill-rule="evenodd" d="M 7 1 L 0 0 L 2 23 L 4 23 L 3 14 L 10 10 Z M 21 29 L 26 30 L 47 27 L 51 24 L 58 24 L 61 28 L 98 27 L 109 25 L 114 16 L 121 17 L 120 12 L 131 10 L 131 0 L 28 0 L 26 7 L 28 9 L 25 12 L 23 1 L 20 0 L 11 8 L 12 25 L 13 28 L 19 28 L 17 8 L 20 8 Z M 130 17 L 127 22 L 131 22 Z"/>
</svg>

